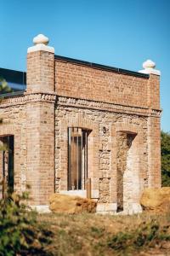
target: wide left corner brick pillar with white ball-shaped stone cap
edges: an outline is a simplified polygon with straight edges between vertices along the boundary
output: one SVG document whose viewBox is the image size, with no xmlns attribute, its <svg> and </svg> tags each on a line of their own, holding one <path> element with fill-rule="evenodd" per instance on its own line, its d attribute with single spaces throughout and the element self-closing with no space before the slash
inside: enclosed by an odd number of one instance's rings
<svg viewBox="0 0 170 256">
<path fill-rule="evenodd" d="M 54 193 L 54 48 L 38 35 L 27 55 L 27 172 L 31 205 L 45 210 Z"/>
</svg>

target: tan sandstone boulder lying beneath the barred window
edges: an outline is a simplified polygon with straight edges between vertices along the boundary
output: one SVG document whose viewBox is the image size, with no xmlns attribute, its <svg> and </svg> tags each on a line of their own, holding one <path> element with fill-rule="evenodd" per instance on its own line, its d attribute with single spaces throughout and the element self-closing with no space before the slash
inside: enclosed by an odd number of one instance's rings
<svg viewBox="0 0 170 256">
<path fill-rule="evenodd" d="M 53 194 L 49 198 L 49 209 L 52 212 L 70 214 L 96 212 L 96 202 L 79 196 Z"/>
</svg>

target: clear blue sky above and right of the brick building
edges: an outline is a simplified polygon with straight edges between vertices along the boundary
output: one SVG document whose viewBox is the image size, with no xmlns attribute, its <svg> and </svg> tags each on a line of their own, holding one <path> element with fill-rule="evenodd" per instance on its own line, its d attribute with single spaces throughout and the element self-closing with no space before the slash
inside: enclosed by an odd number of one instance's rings
<svg viewBox="0 0 170 256">
<path fill-rule="evenodd" d="M 43 33 L 56 55 L 138 71 L 161 70 L 161 129 L 170 131 L 170 1 L 0 0 L 0 67 L 25 71 Z"/>
</svg>

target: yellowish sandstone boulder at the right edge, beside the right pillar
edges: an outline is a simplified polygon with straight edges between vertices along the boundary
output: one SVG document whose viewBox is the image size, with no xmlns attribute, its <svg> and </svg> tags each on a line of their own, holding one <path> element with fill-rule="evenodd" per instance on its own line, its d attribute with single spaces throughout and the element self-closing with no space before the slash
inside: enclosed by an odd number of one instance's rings
<svg viewBox="0 0 170 256">
<path fill-rule="evenodd" d="M 144 189 L 140 204 L 147 212 L 170 212 L 170 187 Z"/>
</svg>

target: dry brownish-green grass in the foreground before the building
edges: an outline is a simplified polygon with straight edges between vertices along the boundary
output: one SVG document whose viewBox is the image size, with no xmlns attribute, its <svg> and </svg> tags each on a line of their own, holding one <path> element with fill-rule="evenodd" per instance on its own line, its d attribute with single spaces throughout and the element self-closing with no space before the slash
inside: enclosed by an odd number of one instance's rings
<svg viewBox="0 0 170 256">
<path fill-rule="evenodd" d="M 38 222 L 53 232 L 53 255 L 170 255 L 170 214 L 101 216 L 40 214 Z M 156 254 L 160 253 L 160 254 Z"/>
</svg>

